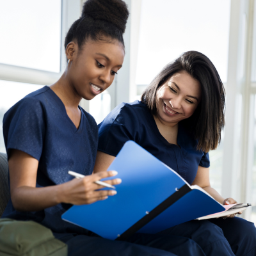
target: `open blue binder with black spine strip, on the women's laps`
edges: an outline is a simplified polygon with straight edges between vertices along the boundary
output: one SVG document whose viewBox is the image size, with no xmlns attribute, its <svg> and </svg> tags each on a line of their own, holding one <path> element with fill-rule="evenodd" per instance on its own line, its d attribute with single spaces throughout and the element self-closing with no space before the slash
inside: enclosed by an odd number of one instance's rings
<svg viewBox="0 0 256 256">
<path fill-rule="evenodd" d="M 200 188 L 193 188 L 166 164 L 134 141 L 127 141 L 108 170 L 122 183 L 117 194 L 90 205 L 74 205 L 62 219 L 108 239 L 154 234 L 224 207 Z"/>
</svg>

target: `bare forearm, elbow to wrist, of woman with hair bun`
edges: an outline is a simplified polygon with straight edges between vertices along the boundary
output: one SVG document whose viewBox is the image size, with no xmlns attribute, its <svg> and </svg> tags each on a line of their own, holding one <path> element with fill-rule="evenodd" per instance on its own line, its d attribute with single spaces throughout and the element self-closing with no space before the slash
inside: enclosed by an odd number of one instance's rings
<svg viewBox="0 0 256 256">
<path fill-rule="evenodd" d="M 17 211 L 41 211 L 60 204 L 61 185 L 44 188 L 22 186 L 13 191 L 12 203 Z"/>
</svg>

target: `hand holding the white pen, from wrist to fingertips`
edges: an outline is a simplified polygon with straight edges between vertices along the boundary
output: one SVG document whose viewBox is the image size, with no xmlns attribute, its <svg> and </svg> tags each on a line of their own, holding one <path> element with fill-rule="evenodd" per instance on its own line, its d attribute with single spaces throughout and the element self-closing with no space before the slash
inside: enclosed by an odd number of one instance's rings
<svg viewBox="0 0 256 256">
<path fill-rule="evenodd" d="M 59 185 L 58 198 L 61 203 L 81 205 L 92 204 L 99 200 L 105 200 L 108 196 L 116 195 L 116 191 L 111 190 L 98 190 L 106 188 L 96 184 L 96 180 L 101 180 L 108 177 L 117 175 L 116 171 L 98 172 L 88 175 L 83 179 L 72 179 L 66 183 Z M 121 179 L 104 180 L 104 182 L 117 185 L 122 182 Z"/>
</svg>

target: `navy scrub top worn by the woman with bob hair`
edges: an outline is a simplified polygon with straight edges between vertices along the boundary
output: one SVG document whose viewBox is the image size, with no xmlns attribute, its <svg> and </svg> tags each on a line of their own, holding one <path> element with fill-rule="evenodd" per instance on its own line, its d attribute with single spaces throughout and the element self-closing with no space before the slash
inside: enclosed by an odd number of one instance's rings
<svg viewBox="0 0 256 256">
<path fill-rule="evenodd" d="M 189 184 L 198 166 L 209 167 L 209 154 L 196 150 L 198 141 L 179 123 L 177 143 L 170 144 L 159 132 L 147 106 L 138 100 L 117 106 L 99 125 L 98 150 L 116 156 L 124 143 L 133 140 L 164 164 L 179 173 Z"/>
</svg>

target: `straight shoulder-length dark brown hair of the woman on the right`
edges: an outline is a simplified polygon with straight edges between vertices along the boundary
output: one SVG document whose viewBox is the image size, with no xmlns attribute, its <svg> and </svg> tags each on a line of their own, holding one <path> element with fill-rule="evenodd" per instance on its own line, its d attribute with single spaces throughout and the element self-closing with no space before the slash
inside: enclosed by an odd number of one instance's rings
<svg viewBox="0 0 256 256">
<path fill-rule="evenodd" d="M 209 152 L 218 147 L 225 125 L 225 89 L 216 68 L 204 54 L 184 52 L 166 65 L 143 92 L 141 101 L 147 104 L 152 115 L 156 115 L 157 90 L 170 77 L 182 71 L 200 82 L 202 100 L 193 115 L 180 122 L 198 140 L 197 149 Z"/>
</svg>

